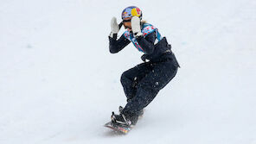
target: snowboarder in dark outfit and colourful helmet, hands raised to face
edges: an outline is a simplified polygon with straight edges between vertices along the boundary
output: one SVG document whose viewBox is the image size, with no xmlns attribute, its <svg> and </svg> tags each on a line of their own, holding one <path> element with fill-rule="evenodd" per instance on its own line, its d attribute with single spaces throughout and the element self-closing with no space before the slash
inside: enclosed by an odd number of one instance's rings
<svg viewBox="0 0 256 144">
<path fill-rule="evenodd" d="M 156 27 L 142 21 L 142 11 L 138 7 L 125 8 L 122 20 L 120 24 L 116 17 L 111 20 L 110 53 L 118 53 L 132 42 L 138 51 L 144 53 L 141 57 L 144 62 L 122 74 L 121 84 L 127 103 L 124 109 L 119 110 L 119 115 L 112 113 L 112 122 L 132 127 L 158 91 L 176 76 L 179 64 L 166 38 L 159 34 Z M 117 40 L 122 25 L 126 30 Z"/>
</svg>

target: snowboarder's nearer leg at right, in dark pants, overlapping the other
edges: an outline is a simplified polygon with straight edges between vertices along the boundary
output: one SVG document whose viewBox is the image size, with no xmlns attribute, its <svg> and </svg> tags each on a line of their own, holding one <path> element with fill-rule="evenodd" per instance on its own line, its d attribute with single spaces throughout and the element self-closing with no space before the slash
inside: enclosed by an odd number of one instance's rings
<svg viewBox="0 0 256 144">
<path fill-rule="evenodd" d="M 175 77 L 177 67 L 170 61 L 152 66 L 152 71 L 138 83 L 135 97 L 126 105 L 123 113 L 133 122 L 138 120 L 138 112 L 143 110 L 163 89 L 172 78 Z"/>
</svg>

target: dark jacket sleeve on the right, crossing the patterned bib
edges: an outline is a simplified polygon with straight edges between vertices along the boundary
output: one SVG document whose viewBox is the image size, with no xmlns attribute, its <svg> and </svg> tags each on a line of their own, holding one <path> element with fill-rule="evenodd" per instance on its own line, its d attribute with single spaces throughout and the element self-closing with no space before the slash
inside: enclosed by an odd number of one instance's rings
<svg viewBox="0 0 256 144">
<path fill-rule="evenodd" d="M 150 54 L 154 52 L 155 46 L 154 43 L 156 41 L 156 34 L 155 32 L 150 33 L 148 35 L 144 36 L 139 36 L 137 38 L 138 44 L 142 49 L 144 49 L 145 54 Z"/>
</svg>

